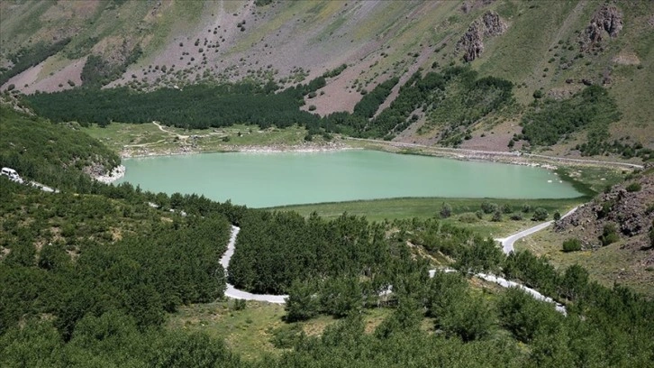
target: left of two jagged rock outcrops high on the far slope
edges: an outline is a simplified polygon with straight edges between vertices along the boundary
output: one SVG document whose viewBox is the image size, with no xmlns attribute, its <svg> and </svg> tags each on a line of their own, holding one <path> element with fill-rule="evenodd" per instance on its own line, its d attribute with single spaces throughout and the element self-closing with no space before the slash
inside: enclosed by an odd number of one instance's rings
<svg viewBox="0 0 654 368">
<path fill-rule="evenodd" d="M 475 60 L 484 51 L 484 38 L 502 34 L 506 28 L 506 23 L 499 14 L 488 11 L 470 24 L 468 31 L 457 42 L 457 51 L 464 51 L 463 60 L 467 62 Z"/>
</svg>

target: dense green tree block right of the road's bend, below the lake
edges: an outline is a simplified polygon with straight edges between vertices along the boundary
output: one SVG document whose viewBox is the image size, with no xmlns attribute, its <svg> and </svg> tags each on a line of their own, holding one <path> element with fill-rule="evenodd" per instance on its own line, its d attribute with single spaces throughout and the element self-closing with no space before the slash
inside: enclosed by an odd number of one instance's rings
<svg viewBox="0 0 654 368">
<path fill-rule="evenodd" d="M 259 293 L 286 293 L 293 281 L 339 275 L 375 278 L 390 262 L 382 225 L 341 216 L 326 221 L 293 212 L 250 211 L 230 263 L 230 281 Z"/>
</svg>

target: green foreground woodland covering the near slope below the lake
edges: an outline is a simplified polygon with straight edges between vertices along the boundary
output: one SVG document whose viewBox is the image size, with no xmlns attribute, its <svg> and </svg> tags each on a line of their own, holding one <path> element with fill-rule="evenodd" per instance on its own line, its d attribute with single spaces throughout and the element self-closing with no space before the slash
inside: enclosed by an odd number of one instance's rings
<svg viewBox="0 0 654 368">
<path fill-rule="evenodd" d="M 23 158 L 15 162 L 35 167 L 41 177 L 31 179 L 66 187 L 45 193 L 0 178 L 2 366 L 633 367 L 654 360 L 652 302 L 589 281 L 577 265 L 555 270 L 531 253 L 505 257 L 492 240 L 433 218 L 328 221 L 129 184 L 50 182 L 40 166 L 82 178 L 71 158 L 108 156 L 67 126 L 3 114 L 3 127 L 15 120 L 50 134 L 16 141 Z M 0 163 L 16 144 L 3 142 Z M 276 340 L 285 350 L 259 361 L 241 359 L 215 337 L 162 327 L 180 305 L 222 297 L 219 258 L 230 224 L 241 226 L 230 277 L 250 290 L 288 292 L 284 326 L 319 314 L 339 320 L 318 336 L 293 329 Z M 430 262 L 459 272 L 430 279 Z M 541 290 L 564 302 L 568 316 L 522 291 L 489 287 L 471 277 L 477 271 Z M 371 308 L 391 312 L 370 328 L 362 316 Z"/>
</svg>

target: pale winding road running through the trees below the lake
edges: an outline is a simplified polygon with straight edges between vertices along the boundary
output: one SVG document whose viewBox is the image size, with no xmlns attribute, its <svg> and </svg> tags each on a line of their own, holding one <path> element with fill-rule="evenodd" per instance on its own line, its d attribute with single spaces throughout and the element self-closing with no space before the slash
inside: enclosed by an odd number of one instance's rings
<svg viewBox="0 0 654 368">
<path fill-rule="evenodd" d="M 562 216 L 561 218 L 572 215 L 576 210 L 577 207 L 572 208 L 571 210 L 568 211 L 566 215 Z M 552 225 L 553 222 L 554 221 L 547 221 L 542 224 L 530 227 L 526 230 L 522 230 L 519 233 L 509 235 L 505 238 L 495 239 L 495 240 L 502 244 L 502 250 L 504 251 L 505 254 L 513 253 L 513 244 L 518 239 L 539 232 L 540 230 Z M 225 251 L 223 257 L 221 258 L 221 265 L 223 265 L 223 268 L 225 269 L 226 272 L 229 272 L 228 267 L 230 265 L 230 260 L 232 260 L 232 255 L 234 255 L 234 249 L 236 247 L 236 237 L 239 235 L 240 231 L 241 231 L 240 227 L 232 225 L 232 234 L 230 235 L 230 241 L 227 244 L 227 251 Z M 450 268 L 441 269 L 441 270 L 430 270 L 429 276 L 433 277 L 436 274 L 436 271 L 455 272 L 456 270 Z M 515 281 L 509 281 L 502 277 L 495 276 L 492 274 L 487 274 L 487 273 L 477 273 L 475 276 L 488 282 L 494 282 L 502 286 L 503 288 L 518 288 L 520 290 L 523 290 L 524 292 L 530 294 L 531 297 L 533 297 L 533 299 L 542 300 L 554 304 L 557 311 L 559 311 L 564 315 L 567 315 L 566 308 L 563 305 L 559 304 L 558 302 L 551 299 L 550 297 L 546 297 L 540 294 L 540 292 L 528 288 Z M 276 303 L 276 304 L 284 304 L 286 303 L 286 298 L 288 298 L 288 295 L 252 294 L 248 291 L 238 290 L 230 283 L 227 284 L 227 289 L 225 290 L 225 296 L 232 299 L 267 301 L 268 303 Z"/>
</svg>

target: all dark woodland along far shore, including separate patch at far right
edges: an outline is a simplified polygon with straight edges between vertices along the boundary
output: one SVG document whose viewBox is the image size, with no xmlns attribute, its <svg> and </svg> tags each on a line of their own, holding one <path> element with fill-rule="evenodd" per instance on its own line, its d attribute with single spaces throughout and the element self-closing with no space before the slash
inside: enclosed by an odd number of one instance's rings
<svg viewBox="0 0 654 368">
<path fill-rule="evenodd" d="M 114 70 L 93 57 L 85 68 L 97 69 L 86 74 L 102 80 L 109 78 L 103 77 L 103 72 Z M 347 66 L 342 65 L 307 84 L 284 90 L 270 81 L 265 85 L 249 82 L 200 84 L 137 92 L 128 87 L 100 89 L 104 82 L 93 77 L 97 80 L 85 80 L 82 88 L 23 98 L 35 112 L 55 122 L 76 121 L 103 126 L 113 121 L 135 124 L 159 121 L 187 129 L 232 124 L 283 128 L 298 124 L 307 128 L 309 137 L 319 133 L 342 133 L 390 140 L 423 118 L 425 124 L 418 133 L 438 129 L 439 143 L 453 147 L 471 138 L 474 124 L 488 116 L 504 114 L 507 107 L 515 106 L 510 81 L 480 78 L 477 71 L 469 67 L 448 67 L 440 72 L 421 70 L 414 73 L 383 111 L 377 110 L 399 78 L 389 78 L 371 91 L 362 92 L 364 96 L 351 114 L 336 112 L 321 117 L 311 113 L 311 108 L 304 111 L 304 97 L 316 96 L 316 91 L 325 86 L 325 78 L 338 76 L 345 68 Z M 83 73 L 83 78 L 86 74 Z M 648 161 L 653 152 L 641 143 L 609 141 L 608 128 L 620 117 L 614 98 L 600 86 L 586 87 L 565 100 L 537 98 L 531 106 L 526 106 L 522 134 L 515 135 L 510 144 L 513 146 L 515 141 L 523 139 L 531 146 L 548 146 L 585 129 L 588 131 L 586 142 L 576 147 L 582 155 L 615 153 L 626 159 L 640 157 Z"/>
</svg>

